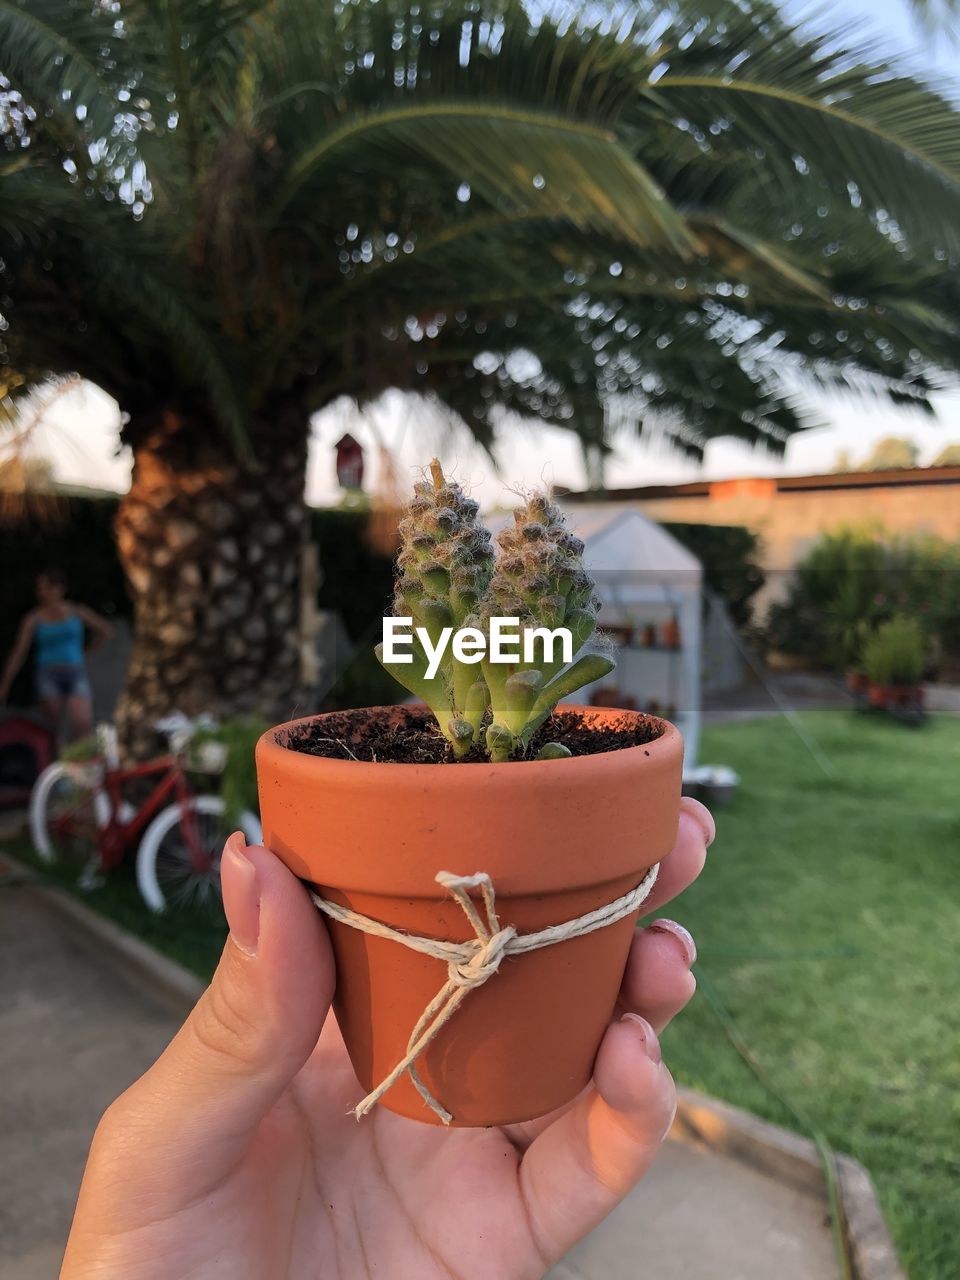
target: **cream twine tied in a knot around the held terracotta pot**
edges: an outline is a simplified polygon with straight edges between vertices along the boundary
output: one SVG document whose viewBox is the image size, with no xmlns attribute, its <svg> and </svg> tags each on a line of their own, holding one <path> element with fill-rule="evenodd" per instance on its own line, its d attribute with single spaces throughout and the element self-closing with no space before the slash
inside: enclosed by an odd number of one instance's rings
<svg viewBox="0 0 960 1280">
<path fill-rule="evenodd" d="M 475 876 L 453 876 L 451 872 L 438 872 L 436 883 L 453 895 L 474 929 L 475 937 L 466 942 L 443 942 L 438 938 L 421 938 L 413 933 L 404 933 L 402 929 L 390 928 L 389 924 L 372 920 L 358 911 L 351 911 L 349 908 L 330 902 L 320 897 L 319 893 L 311 892 L 314 904 L 332 920 L 338 920 L 340 924 L 360 929 L 375 938 L 399 942 L 401 946 L 419 951 L 421 955 L 447 961 L 447 982 L 420 1015 L 407 1041 L 403 1057 L 376 1088 L 353 1108 L 357 1120 L 376 1106 L 384 1093 L 407 1071 L 424 1102 L 444 1124 L 449 1124 L 453 1120 L 452 1114 L 436 1101 L 424 1084 L 417 1073 L 416 1061 L 438 1032 L 447 1025 L 470 992 L 489 982 L 499 969 L 504 956 L 522 955 L 525 951 L 538 951 L 540 947 L 554 946 L 557 942 L 566 942 L 570 938 L 581 938 L 586 933 L 607 928 L 608 924 L 614 924 L 625 915 L 630 915 L 631 911 L 636 911 L 650 893 L 658 870 L 659 863 L 650 868 L 636 888 L 614 899 L 613 902 L 607 902 L 596 910 L 588 911 L 585 915 L 579 915 L 563 924 L 552 924 L 536 933 L 517 933 L 512 924 L 500 925 L 493 881 L 485 872 L 477 872 Z M 479 888 L 481 892 L 485 919 L 470 896 L 471 888 Z"/>
</svg>

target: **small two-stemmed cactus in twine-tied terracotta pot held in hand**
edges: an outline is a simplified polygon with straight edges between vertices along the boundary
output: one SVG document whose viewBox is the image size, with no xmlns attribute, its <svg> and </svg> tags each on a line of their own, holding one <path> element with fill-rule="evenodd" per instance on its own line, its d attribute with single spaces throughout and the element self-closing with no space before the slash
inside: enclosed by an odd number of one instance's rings
<svg viewBox="0 0 960 1280">
<path fill-rule="evenodd" d="M 379 657 L 421 705 L 265 733 L 264 840 L 328 916 L 358 1114 L 526 1120 L 590 1078 L 676 836 L 682 742 L 637 712 L 558 708 L 613 663 L 582 543 L 545 497 L 494 550 L 434 462 L 399 535 Z"/>
</svg>

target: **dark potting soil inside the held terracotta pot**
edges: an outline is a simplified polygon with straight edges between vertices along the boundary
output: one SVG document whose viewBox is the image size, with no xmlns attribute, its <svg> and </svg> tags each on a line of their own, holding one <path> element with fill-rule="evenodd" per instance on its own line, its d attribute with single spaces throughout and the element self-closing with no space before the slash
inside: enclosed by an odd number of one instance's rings
<svg viewBox="0 0 960 1280">
<path fill-rule="evenodd" d="M 581 712 L 556 712 L 534 735 L 526 755 L 534 760 L 545 742 L 561 742 L 573 755 L 599 755 L 626 746 L 644 746 L 663 733 L 652 716 L 623 716 L 603 726 L 591 724 Z M 449 742 L 429 713 L 403 710 L 396 717 L 361 717 L 334 712 L 319 723 L 294 730 L 284 742 L 293 751 L 323 755 L 330 760 L 379 764 L 488 764 L 481 748 L 456 760 Z"/>
</svg>

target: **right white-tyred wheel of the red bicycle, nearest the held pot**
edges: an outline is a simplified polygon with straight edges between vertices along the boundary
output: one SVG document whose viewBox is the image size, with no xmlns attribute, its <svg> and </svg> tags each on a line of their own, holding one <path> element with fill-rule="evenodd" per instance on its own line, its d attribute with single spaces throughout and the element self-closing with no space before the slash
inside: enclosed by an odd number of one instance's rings
<svg viewBox="0 0 960 1280">
<path fill-rule="evenodd" d="M 188 835 L 183 831 L 184 809 L 196 832 L 198 852 L 206 865 L 197 868 Z M 186 806 L 172 804 L 154 818 L 137 850 L 137 886 L 151 911 L 170 908 L 207 906 L 220 897 L 220 855 L 224 841 L 239 826 L 248 844 L 262 838 L 260 823 L 246 810 L 239 823 L 228 823 L 219 796 L 195 796 Z"/>
</svg>

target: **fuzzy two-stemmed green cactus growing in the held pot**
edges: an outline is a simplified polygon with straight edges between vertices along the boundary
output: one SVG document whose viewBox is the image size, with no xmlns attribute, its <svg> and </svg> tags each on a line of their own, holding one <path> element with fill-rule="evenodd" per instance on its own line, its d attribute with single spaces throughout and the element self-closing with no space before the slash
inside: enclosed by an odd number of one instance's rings
<svg viewBox="0 0 960 1280">
<path fill-rule="evenodd" d="M 483 741 L 492 760 L 522 755 L 557 703 L 612 671 L 602 653 L 584 652 L 596 628 L 599 600 L 584 570 L 584 544 L 564 525 L 559 507 L 543 494 L 515 512 L 498 538 L 477 524 L 477 504 L 430 463 L 430 479 L 415 486 L 401 521 L 394 617 L 410 617 L 416 635 L 412 660 L 384 668 L 433 712 L 457 758 Z M 516 618 L 511 649 L 516 660 L 494 662 L 490 645 L 498 618 Z M 475 660 L 457 657 L 451 636 L 470 628 Z M 570 648 L 548 643 L 545 632 L 567 628 Z M 466 632 L 465 632 L 466 634 Z M 439 659 L 431 654 L 443 645 Z M 481 657 L 476 658 L 477 650 Z M 570 755 L 547 744 L 543 759 Z"/>
</svg>

